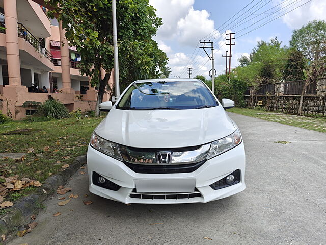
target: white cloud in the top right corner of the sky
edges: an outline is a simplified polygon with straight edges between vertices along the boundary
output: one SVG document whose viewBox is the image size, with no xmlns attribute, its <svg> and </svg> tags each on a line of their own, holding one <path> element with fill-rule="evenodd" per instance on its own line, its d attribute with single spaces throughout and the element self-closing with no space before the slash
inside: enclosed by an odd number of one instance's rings
<svg viewBox="0 0 326 245">
<path fill-rule="evenodd" d="M 302 3 L 297 3 L 294 7 L 301 4 Z M 326 20 L 325 13 L 326 1 L 314 0 L 284 15 L 282 20 L 289 28 L 298 29 L 314 19 Z"/>
</svg>

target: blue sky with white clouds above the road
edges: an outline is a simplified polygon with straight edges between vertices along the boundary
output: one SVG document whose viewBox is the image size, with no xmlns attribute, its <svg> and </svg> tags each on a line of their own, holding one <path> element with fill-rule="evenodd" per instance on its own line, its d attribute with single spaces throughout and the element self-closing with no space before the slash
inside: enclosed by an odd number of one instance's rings
<svg viewBox="0 0 326 245">
<path fill-rule="evenodd" d="M 222 55 L 229 51 L 226 33 L 235 32 L 233 68 L 258 41 L 277 37 L 288 46 L 294 29 L 314 19 L 326 20 L 326 0 L 149 0 L 149 4 L 162 18 L 154 40 L 169 57 L 172 78 L 188 77 L 188 67 L 193 68 L 192 77 L 209 77 L 211 61 L 199 48 L 199 40 L 214 41 L 214 66 L 221 74 L 226 68 Z"/>
</svg>

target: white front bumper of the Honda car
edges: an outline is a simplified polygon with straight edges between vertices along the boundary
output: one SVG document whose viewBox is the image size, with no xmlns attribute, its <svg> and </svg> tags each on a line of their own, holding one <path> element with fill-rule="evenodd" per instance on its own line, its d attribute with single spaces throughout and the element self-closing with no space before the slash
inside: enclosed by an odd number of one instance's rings
<svg viewBox="0 0 326 245">
<path fill-rule="evenodd" d="M 246 159 L 243 142 L 235 148 L 207 160 L 202 166 L 191 173 L 177 174 L 139 174 L 132 171 L 123 162 L 109 157 L 91 146 L 88 147 L 87 165 L 89 175 L 90 192 L 100 197 L 115 200 L 122 203 L 145 203 L 145 204 L 174 204 L 174 203 L 207 203 L 222 199 L 243 191 L 244 169 Z M 214 190 L 210 185 L 231 174 L 236 169 L 240 170 L 240 182 L 228 187 Z M 102 188 L 92 183 L 92 174 L 96 172 L 104 178 L 121 186 L 117 191 Z M 196 188 L 201 197 L 182 199 L 139 199 L 131 198 L 130 194 L 135 188 L 135 180 L 182 180 L 196 179 Z"/>
</svg>

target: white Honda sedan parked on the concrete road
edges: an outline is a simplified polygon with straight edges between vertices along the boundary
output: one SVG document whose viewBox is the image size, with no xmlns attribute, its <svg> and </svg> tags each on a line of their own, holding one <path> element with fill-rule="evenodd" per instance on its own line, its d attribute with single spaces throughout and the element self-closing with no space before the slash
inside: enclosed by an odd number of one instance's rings
<svg viewBox="0 0 326 245">
<path fill-rule="evenodd" d="M 88 152 L 90 192 L 122 203 L 206 203 L 243 191 L 240 131 L 198 79 L 130 84 L 96 127 Z"/>
</svg>

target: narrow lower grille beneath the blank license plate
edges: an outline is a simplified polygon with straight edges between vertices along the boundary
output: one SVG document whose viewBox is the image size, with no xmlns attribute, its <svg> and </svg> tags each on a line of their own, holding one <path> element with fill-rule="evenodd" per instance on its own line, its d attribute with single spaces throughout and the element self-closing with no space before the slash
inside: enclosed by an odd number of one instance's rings
<svg viewBox="0 0 326 245">
<path fill-rule="evenodd" d="M 201 193 L 195 188 L 194 192 L 152 192 L 152 193 L 138 193 L 136 188 L 132 190 L 130 193 L 130 198 L 138 198 L 138 199 L 161 199 L 161 200 L 169 200 L 169 199 L 191 199 L 191 198 L 199 198 L 201 197 Z"/>
</svg>

